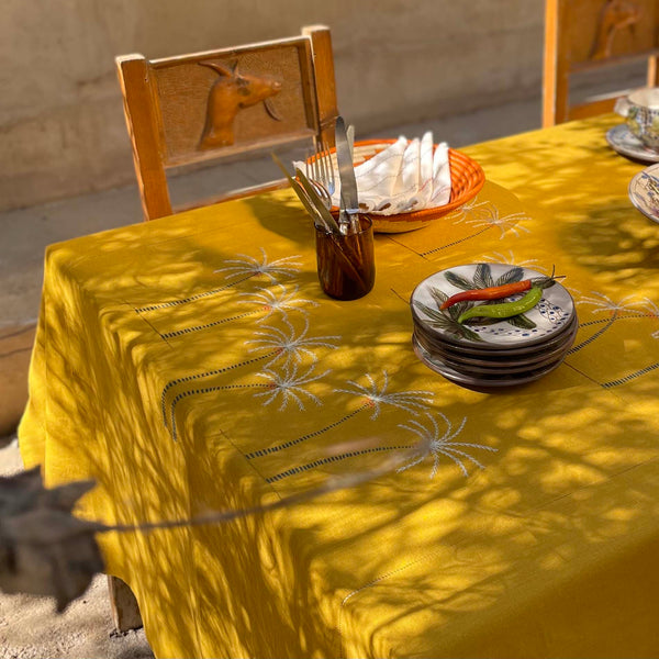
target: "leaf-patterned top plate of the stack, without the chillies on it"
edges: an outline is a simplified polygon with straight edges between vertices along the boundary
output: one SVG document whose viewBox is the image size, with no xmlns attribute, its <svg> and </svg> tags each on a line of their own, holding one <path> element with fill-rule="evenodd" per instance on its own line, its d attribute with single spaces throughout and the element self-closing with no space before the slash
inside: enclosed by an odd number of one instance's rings
<svg viewBox="0 0 659 659">
<path fill-rule="evenodd" d="M 516 276 L 516 277 L 515 277 Z M 412 293 L 412 314 L 426 332 L 438 340 L 454 345 L 479 346 L 487 349 L 521 347 L 548 340 L 565 330 L 574 315 L 572 295 L 560 283 L 543 290 L 543 299 L 524 315 L 535 327 L 516 326 L 513 319 L 488 321 L 488 324 L 460 325 L 449 313 L 439 311 L 437 299 L 465 290 L 454 286 L 449 278 L 459 278 L 469 288 L 499 286 L 511 280 L 546 277 L 545 273 L 511 266 L 510 264 L 469 264 L 447 268 L 424 279 Z"/>
</svg>

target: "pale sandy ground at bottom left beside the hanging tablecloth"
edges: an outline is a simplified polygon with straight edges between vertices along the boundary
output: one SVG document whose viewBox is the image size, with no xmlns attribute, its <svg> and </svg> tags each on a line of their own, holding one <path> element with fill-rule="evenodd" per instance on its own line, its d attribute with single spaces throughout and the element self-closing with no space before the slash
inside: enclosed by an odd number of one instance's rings
<svg viewBox="0 0 659 659">
<path fill-rule="evenodd" d="M 15 438 L 0 439 L 0 476 L 23 469 Z M 144 629 L 113 630 L 104 574 L 67 610 L 48 597 L 0 592 L 0 659 L 149 659 Z"/>
</svg>

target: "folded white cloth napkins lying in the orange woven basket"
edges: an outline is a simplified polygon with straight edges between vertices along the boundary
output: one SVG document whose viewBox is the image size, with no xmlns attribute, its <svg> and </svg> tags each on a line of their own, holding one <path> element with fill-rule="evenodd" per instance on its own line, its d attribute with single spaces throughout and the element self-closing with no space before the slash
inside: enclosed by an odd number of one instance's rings
<svg viewBox="0 0 659 659">
<path fill-rule="evenodd" d="M 340 183 L 335 171 L 339 205 Z M 369 213 L 394 215 L 442 206 L 450 199 L 448 145 L 433 144 L 433 133 L 418 139 L 401 136 L 391 146 L 355 167 L 359 208 Z"/>
</svg>

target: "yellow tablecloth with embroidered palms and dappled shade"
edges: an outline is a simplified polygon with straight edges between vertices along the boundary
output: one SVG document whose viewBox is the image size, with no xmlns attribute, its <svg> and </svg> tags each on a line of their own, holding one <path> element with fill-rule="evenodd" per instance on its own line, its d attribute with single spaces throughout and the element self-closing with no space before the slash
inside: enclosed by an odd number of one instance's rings
<svg viewBox="0 0 659 659">
<path fill-rule="evenodd" d="M 294 509 L 101 537 L 157 656 L 659 654 L 659 227 L 628 201 L 643 166 L 606 145 L 614 123 L 466 149 L 478 198 L 377 236 L 355 302 L 321 293 L 289 191 L 48 249 L 20 446 L 48 485 L 97 479 L 81 515 L 271 501 L 426 439 Z M 535 383 L 470 391 L 412 350 L 416 283 L 482 260 L 567 276 L 577 340 Z"/>
</svg>

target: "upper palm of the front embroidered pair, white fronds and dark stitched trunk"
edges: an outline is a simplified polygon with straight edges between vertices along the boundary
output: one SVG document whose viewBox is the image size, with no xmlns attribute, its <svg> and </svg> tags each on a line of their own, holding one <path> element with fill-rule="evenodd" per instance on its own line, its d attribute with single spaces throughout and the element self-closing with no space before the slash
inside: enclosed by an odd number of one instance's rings
<svg viewBox="0 0 659 659">
<path fill-rule="evenodd" d="M 268 448 L 261 448 L 255 450 L 253 453 L 247 454 L 245 457 L 248 460 L 254 458 L 267 456 L 273 453 L 278 453 L 286 448 L 290 448 L 291 446 L 297 446 L 302 442 L 306 442 L 312 437 L 319 437 L 324 433 L 336 428 L 343 423 L 349 421 L 360 412 L 366 410 L 371 410 L 370 418 L 375 421 L 380 415 L 380 410 L 382 405 L 391 405 L 392 407 L 398 407 L 400 410 L 404 410 L 406 412 L 411 412 L 412 414 L 418 414 L 418 411 L 425 410 L 433 402 L 433 392 L 424 391 L 424 390 L 415 390 L 415 391 L 402 391 L 402 392 L 387 392 L 389 388 L 389 376 L 387 371 L 382 371 L 382 384 L 378 386 L 376 380 L 372 378 L 370 373 L 366 375 L 366 379 L 368 380 L 368 386 L 364 387 L 358 384 L 357 382 L 348 381 L 348 384 L 351 386 L 351 389 L 335 389 L 335 392 L 340 393 L 349 393 L 350 395 L 364 396 L 366 401 L 359 405 L 353 412 L 342 416 L 340 418 L 327 424 L 326 426 L 313 431 L 306 435 L 302 435 L 295 439 L 289 439 L 288 442 L 283 442 L 282 444 L 278 444 L 276 446 L 270 446 Z"/>
</svg>

